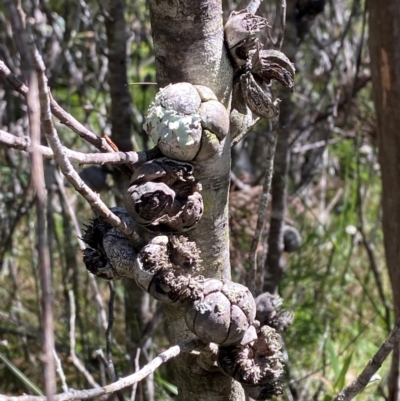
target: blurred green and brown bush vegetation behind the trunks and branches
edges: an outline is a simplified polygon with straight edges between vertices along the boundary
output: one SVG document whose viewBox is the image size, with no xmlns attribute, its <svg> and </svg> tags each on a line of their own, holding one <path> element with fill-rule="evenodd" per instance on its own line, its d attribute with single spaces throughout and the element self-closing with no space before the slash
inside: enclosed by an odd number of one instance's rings
<svg viewBox="0 0 400 401">
<path fill-rule="evenodd" d="M 246 5 L 233 0 L 223 3 L 225 18 Z M 315 11 L 311 6 L 317 3 L 320 9 Z M 24 0 L 22 5 L 33 21 L 53 97 L 90 130 L 111 135 L 107 10 L 103 3 Z M 281 258 L 285 273 L 280 294 L 285 307 L 295 312 L 294 322 L 284 334 L 288 386 L 281 398 L 328 401 L 366 365 L 388 334 L 393 317 L 381 231 L 365 3 L 299 0 L 296 7 L 295 19 L 288 21 L 296 31 L 293 61 L 297 75 L 287 117 L 290 165 L 285 177 L 285 222 L 299 230 L 303 244 Z M 259 11 L 270 22 L 272 37 L 278 29 L 279 10 L 279 1 L 267 1 Z M 155 85 L 135 84 L 155 83 L 146 2 L 126 2 L 125 20 L 132 99 L 130 139 L 133 149 L 139 150 L 153 146 L 144 135 L 142 119 L 156 92 Z M 265 42 L 269 47 L 271 40 Z M 7 13 L 1 5 L 0 59 L 21 75 Z M 56 124 L 65 146 L 93 151 L 68 128 Z M 1 82 L 0 129 L 24 136 L 27 126 L 24 99 Z M 238 280 L 248 267 L 271 129 L 276 129 L 276 124 L 261 122 L 233 149 L 231 261 Z M 76 167 L 109 206 L 121 202 L 115 170 Z M 37 394 L 43 389 L 41 308 L 27 154 L 0 145 L 0 177 L 0 393 Z M 85 270 L 78 240 L 93 212 L 49 161 L 46 185 L 57 357 L 69 387 L 88 388 L 91 380 L 105 384 L 108 378 L 96 351 L 105 352 L 110 291 L 107 283 Z M 115 282 L 114 287 L 113 361 L 122 376 L 135 369 L 135 361 L 127 352 L 132 340 L 127 330 L 124 284 Z M 146 313 L 156 323 L 148 323 L 142 340 L 135 343 L 144 361 L 168 346 L 162 314 L 156 303 L 148 301 L 146 305 Z M 356 399 L 385 399 L 387 371 L 388 362 L 380 377 Z M 136 399 L 174 399 L 172 383 L 168 368 L 163 368 L 150 383 L 154 392 L 138 390 Z M 127 391 L 124 396 L 131 394 Z"/>
</svg>

